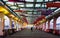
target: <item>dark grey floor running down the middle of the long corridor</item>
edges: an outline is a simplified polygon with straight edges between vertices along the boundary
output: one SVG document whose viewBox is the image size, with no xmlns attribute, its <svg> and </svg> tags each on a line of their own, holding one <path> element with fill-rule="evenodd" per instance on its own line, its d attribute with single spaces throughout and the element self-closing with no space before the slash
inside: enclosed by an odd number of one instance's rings
<svg viewBox="0 0 60 38">
<path fill-rule="evenodd" d="M 60 36 L 52 35 L 39 30 L 23 30 L 6 38 L 60 38 Z"/>
</svg>

